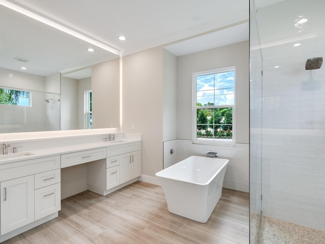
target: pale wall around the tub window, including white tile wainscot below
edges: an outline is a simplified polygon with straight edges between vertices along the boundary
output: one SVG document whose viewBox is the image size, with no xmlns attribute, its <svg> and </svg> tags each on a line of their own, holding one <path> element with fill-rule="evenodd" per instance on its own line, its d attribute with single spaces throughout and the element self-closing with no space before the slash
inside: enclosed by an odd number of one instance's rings
<svg viewBox="0 0 325 244">
<path fill-rule="evenodd" d="M 122 129 L 142 134 L 144 175 L 154 176 L 163 164 L 168 167 L 214 149 L 219 157 L 230 159 L 224 187 L 249 191 L 248 53 L 248 42 L 242 42 L 177 58 L 160 47 L 123 57 Z M 236 66 L 241 143 L 236 147 L 192 144 L 192 73 L 225 66 Z"/>
</svg>

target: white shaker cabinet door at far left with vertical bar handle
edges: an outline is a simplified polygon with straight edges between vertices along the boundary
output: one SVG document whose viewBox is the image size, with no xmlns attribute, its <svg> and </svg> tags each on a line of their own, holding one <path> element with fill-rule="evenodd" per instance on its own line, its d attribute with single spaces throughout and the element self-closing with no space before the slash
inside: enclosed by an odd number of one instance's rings
<svg viewBox="0 0 325 244">
<path fill-rule="evenodd" d="M 34 175 L 0 183 L 1 234 L 34 221 Z"/>
</svg>

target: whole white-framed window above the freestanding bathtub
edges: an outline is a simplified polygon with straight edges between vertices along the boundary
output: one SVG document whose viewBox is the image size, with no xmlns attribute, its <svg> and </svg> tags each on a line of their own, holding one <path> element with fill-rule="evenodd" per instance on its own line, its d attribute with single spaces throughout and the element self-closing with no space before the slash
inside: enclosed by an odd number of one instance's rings
<svg viewBox="0 0 325 244">
<path fill-rule="evenodd" d="M 235 67 L 193 74 L 193 143 L 235 144 Z"/>
</svg>

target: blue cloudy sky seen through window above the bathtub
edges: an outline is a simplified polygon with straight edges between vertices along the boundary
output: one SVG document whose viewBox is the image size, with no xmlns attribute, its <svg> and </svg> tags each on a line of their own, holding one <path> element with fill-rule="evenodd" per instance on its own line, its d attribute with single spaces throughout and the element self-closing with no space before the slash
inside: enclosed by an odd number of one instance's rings
<svg viewBox="0 0 325 244">
<path fill-rule="evenodd" d="M 233 105 L 235 92 L 235 72 L 197 76 L 197 102 L 215 105 Z"/>
</svg>

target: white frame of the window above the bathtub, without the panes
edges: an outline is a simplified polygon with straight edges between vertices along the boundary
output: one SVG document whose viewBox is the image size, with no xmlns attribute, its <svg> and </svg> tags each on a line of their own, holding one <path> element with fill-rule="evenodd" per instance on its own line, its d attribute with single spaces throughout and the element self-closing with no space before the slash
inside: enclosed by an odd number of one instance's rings
<svg viewBox="0 0 325 244">
<path fill-rule="evenodd" d="M 197 76 L 217 74 L 234 71 L 234 104 L 233 105 L 214 105 L 214 106 L 197 106 Z M 236 67 L 228 67 L 222 69 L 215 69 L 203 72 L 193 73 L 193 89 L 192 89 L 192 143 L 194 144 L 207 144 L 207 145 L 236 145 Z M 232 139 L 202 139 L 197 137 L 197 110 L 198 108 L 232 108 L 233 109 L 233 134 Z"/>
</svg>

